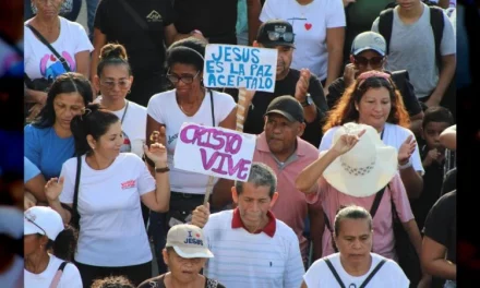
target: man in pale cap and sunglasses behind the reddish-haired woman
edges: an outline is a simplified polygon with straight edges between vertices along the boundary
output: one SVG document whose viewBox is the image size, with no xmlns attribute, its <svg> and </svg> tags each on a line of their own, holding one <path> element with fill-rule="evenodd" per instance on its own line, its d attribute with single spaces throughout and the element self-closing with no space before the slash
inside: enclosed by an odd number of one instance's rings
<svg viewBox="0 0 480 288">
<path fill-rule="evenodd" d="M 408 71 L 386 71 L 386 41 L 376 32 L 363 32 L 355 37 L 350 50 L 350 63 L 345 67 L 344 76 L 336 79 L 328 86 L 326 95 L 329 109 L 338 104 L 344 92 L 355 82 L 358 75 L 363 72 L 376 70 L 392 75 L 392 80 L 399 89 L 404 99 L 405 109 L 410 116 L 410 130 L 415 133 L 420 132 L 423 119 L 423 111 L 420 101 L 415 95 Z"/>
</svg>

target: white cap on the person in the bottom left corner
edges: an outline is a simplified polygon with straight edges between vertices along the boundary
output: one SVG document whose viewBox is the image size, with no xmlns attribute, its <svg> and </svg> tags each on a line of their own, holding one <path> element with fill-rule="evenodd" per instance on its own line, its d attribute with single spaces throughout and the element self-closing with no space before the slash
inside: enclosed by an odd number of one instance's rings
<svg viewBox="0 0 480 288">
<path fill-rule="evenodd" d="M 23 225 L 24 235 L 45 235 L 52 241 L 64 229 L 60 214 L 45 206 L 34 206 L 25 211 Z"/>
</svg>

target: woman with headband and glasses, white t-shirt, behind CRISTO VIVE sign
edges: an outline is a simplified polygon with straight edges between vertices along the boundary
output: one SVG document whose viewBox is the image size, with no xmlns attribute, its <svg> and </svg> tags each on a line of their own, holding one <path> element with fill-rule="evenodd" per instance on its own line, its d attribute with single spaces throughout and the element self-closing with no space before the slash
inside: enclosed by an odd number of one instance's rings
<svg viewBox="0 0 480 288">
<path fill-rule="evenodd" d="M 176 169 L 175 148 L 184 122 L 235 130 L 236 103 L 225 93 L 203 85 L 205 44 L 196 38 L 175 43 L 167 51 L 168 80 L 175 88 L 152 96 L 147 106 L 147 142 L 153 131 L 160 131 L 158 141 L 168 152 L 171 200 L 167 226 L 189 221 L 189 215 L 203 204 L 208 176 Z M 223 180 L 220 180 L 223 181 Z M 167 229 L 168 229 L 167 227 Z"/>
</svg>

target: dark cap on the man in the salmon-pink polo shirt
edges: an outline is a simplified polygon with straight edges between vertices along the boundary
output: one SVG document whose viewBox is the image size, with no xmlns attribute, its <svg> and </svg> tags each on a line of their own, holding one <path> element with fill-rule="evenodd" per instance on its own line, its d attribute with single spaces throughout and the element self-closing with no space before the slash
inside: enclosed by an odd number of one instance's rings
<svg viewBox="0 0 480 288">
<path fill-rule="evenodd" d="M 298 121 L 302 123 L 304 121 L 303 107 L 295 97 L 290 95 L 279 96 L 271 101 L 268 108 L 266 108 L 265 116 L 271 113 L 279 113 L 287 118 L 290 122 Z"/>
</svg>

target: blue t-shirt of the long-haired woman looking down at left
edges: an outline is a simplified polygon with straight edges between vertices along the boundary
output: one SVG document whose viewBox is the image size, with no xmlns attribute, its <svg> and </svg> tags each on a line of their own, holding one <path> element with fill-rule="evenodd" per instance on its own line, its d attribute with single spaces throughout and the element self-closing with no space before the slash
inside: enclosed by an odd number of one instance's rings
<svg viewBox="0 0 480 288">
<path fill-rule="evenodd" d="M 64 161 L 73 157 L 75 144 L 73 136 L 61 139 L 53 128 L 24 128 L 25 157 L 27 157 L 45 177 L 45 180 L 59 177 Z"/>
</svg>

